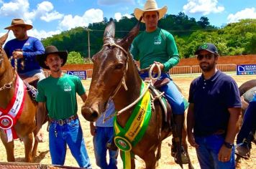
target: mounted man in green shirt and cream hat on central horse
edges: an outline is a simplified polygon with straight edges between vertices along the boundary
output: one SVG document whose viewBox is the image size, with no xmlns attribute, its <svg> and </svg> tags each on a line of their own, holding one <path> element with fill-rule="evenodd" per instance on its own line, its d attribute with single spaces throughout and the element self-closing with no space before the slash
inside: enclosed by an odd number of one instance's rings
<svg viewBox="0 0 256 169">
<path fill-rule="evenodd" d="M 134 39 L 130 52 L 135 60 L 140 61 L 141 69 L 150 67 L 154 63 L 158 64 L 162 72 L 160 79 L 168 79 L 169 82 L 159 90 L 165 92 L 165 97 L 172 107 L 175 124 L 173 136 L 176 144 L 180 145 L 184 111 L 187 105 L 168 73 L 169 69 L 178 64 L 180 60 L 175 39 L 172 34 L 157 27 L 158 21 L 166 11 L 167 6 L 158 9 L 155 0 L 146 1 L 144 9 L 134 9 L 134 16 L 138 20 L 142 16 L 146 30 Z M 148 71 L 140 72 L 140 77 L 142 79 L 149 77 Z"/>
</svg>

